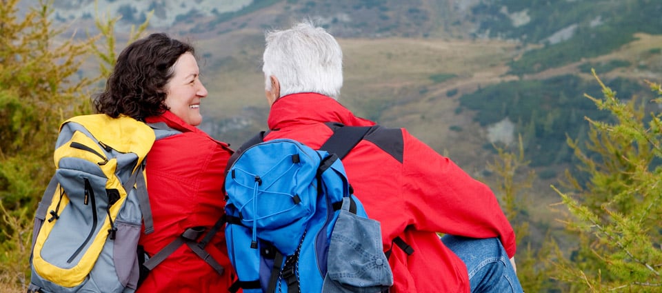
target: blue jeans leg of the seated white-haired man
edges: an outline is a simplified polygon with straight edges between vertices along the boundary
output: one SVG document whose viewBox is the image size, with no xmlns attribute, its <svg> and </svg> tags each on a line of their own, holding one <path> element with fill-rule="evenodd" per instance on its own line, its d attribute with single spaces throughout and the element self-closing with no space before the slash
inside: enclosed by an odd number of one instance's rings
<svg viewBox="0 0 662 293">
<path fill-rule="evenodd" d="M 471 292 L 523 292 L 517 274 L 497 238 L 444 235 L 441 241 L 467 266 Z"/>
</svg>

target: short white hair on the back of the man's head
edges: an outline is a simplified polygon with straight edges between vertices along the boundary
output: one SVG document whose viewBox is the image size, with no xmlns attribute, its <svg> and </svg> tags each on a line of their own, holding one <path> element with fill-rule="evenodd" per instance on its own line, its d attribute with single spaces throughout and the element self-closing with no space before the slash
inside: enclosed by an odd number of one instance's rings
<svg viewBox="0 0 662 293">
<path fill-rule="evenodd" d="M 343 51 L 331 34 L 303 21 L 288 30 L 267 32 L 265 40 L 265 90 L 271 90 L 270 77 L 274 76 L 280 83 L 280 97 L 299 92 L 340 97 Z"/>
</svg>

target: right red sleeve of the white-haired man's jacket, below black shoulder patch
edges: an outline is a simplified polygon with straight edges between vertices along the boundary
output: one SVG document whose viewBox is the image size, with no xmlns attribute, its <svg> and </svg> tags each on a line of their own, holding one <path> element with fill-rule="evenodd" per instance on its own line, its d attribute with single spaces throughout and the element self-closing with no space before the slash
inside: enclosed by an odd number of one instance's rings
<svg viewBox="0 0 662 293">
<path fill-rule="evenodd" d="M 403 199 L 419 230 L 498 236 L 509 257 L 515 235 L 490 188 L 403 130 Z"/>
</svg>

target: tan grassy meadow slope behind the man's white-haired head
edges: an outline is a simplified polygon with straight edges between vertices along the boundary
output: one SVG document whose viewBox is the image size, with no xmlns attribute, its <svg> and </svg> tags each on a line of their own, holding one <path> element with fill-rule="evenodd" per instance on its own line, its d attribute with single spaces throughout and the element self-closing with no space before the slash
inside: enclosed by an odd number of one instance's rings
<svg viewBox="0 0 662 293">
<path fill-rule="evenodd" d="M 508 70 L 504 64 L 516 54 L 513 43 L 403 38 L 339 42 L 345 55 L 342 103 L 362 117 L 408 127 L 437 150 L 459 156 L 460 150 L 468 148 L 446 143 L 458 135 L 450 127 L 469 131 L 470 125 L 463 124 L 472 122 L 466 119 L 469 115 L 455 113 L 457 97 L 479 85 L 514 79 L 504 75 Z M 260 117 L 268 111 L 259 63 L 262 43 L 251 38 L 237 48 L 237 54 L 223 58 L 218 68 L 206 72 L 203 81 L 210 97 L 203 111 L 208 120 L 230 128 L 226 124 L 248 119 L 248 130 L 265 128 L 264 117 Z M 206 48 L 208 43 L 199 46 Z M 440 79 L 444 76 L 450 79 Z M 454 95 L 448 97 L 449 92 Z M 215 135 L 225 139 L 223 134 L 221 130 Z"/>
</svg>

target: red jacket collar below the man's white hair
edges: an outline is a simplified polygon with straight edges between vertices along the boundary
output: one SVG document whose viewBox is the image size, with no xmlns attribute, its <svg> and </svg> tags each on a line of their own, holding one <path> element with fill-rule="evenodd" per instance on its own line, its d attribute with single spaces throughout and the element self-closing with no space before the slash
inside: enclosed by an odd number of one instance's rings
<svg viewBox="0 0 662 293">
<path fill-rule="evenodd" d="M 291 125 L 340 122 L 352 126 L 374 125 L 374 122 L 356 117 L 338 101 L 323 94 L 305 92 L 288 94 L 274 102 L 269 112 L 269 129 Z"/>
</svg>

